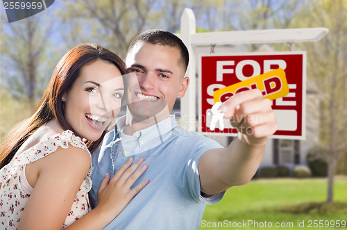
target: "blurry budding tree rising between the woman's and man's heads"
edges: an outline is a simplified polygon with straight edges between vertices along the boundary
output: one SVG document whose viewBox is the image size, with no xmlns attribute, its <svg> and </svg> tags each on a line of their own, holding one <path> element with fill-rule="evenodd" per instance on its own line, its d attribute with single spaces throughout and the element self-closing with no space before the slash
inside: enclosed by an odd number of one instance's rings
<svg viewBox="0 0 347 230">
<path fill-rule="evenodd" d="M 56 14 L 71 28 L 62 31 L 67 42 L 93 42 L 125 57 L 130 41 L 145 28 L 150 28 L 154 0 L 62 1 L 64 6 Z M 151 18 L 151 19 L 150 19 Z M 65 26 L 63 26 L 65 29 Z M 78 30 L 79 33 L 75 31 Z"/>
</svg>

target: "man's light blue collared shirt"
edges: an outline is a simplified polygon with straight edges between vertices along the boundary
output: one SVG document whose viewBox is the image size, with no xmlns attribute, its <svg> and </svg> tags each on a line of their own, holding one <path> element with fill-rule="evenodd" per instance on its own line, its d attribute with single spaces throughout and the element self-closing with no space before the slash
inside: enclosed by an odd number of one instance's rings
<svg viewBox="0 0 347 230">
<path fill-rule="evenodd" d="M 117 120 L 123 129 L 125 117 Z M 97 204 L 97 191 L 106 173 L 111 176 L 129 157 L 144 158 L 149 168 L 133 185 L 149 184 L 105 227 L 105 229 L 198 229 L 206 204 L 216 204 L 224 192 L 202 197 L 198 161 L 218 142 L 176 126 L 174 115 L 126 136 L 117 129 L 105 135 L 92 154 L 90 199 Z"/>
</svg>

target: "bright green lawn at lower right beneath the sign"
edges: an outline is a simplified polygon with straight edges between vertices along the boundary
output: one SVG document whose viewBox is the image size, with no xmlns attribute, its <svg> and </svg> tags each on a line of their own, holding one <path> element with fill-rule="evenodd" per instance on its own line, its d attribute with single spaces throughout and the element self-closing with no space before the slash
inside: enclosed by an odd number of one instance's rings
<svg viewBox="0 0 347 230">
<path fill-rule="evenodd" d="M 347 203 L 347 178 L 335 179 L 334 189 L 334 202 Z M 280 211 L 284 206 L 324 202 L 326 192 L 327 179 L 253 180 L 245 186 L 230 188 L 221 202 L 207 206 L 199 229 L 334 229 L 331 224 L 337 224 L 336 220 L 340 225 L 347 222 L 346 205 L 324 214 Z M 276 223 L 282 227 L 277 228 Z M 319 224 L 327 225 L 319 227 Z M 347 223 L 339 229 L 347 229 Z"/>
</svg>

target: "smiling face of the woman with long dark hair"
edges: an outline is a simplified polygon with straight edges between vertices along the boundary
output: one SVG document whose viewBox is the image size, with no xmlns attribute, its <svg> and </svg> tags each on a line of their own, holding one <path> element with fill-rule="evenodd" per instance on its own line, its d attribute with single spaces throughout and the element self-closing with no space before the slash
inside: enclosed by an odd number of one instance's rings
<svg viewBox="0 0 347 230">
<path fill-rule="evenodd" d="M 65 119 L 76 135 L 98 140 L 119 113 L 123 95 L 123 79 L 115 65 L 104 60 L 88 63 L 62 99 Z"/>
</svg>

